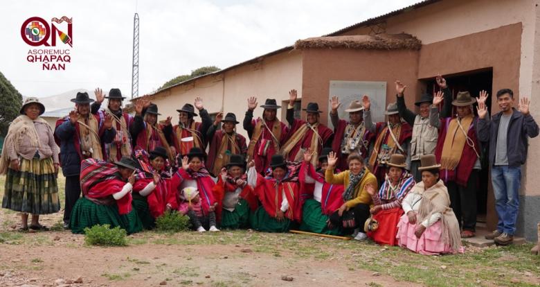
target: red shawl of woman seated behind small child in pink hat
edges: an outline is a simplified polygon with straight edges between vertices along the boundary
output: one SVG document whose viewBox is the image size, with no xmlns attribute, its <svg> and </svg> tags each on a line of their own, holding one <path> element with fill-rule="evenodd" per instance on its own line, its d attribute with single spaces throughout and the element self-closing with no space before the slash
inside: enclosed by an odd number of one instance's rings
<svg viewBox="0 0 540 287">
<path fill-rule="evenodd" d="M 214 205 L 217 202 L 214 198 L 212 189 L 215 186 L 212 177 L 208 175 L 208 171 L 204 170 L 205 173 L 195 173 L 184 171 L 183 168 L 180 168 L 174 175 L 172 175 L 170 182 L 170 190 L 172 193 L 175 193 L 177 196 L 180 195 L 182 182 L 184 180 L 195 180 L 197 182 L 197 189 L 199 190 L 199 197 L 201 198 L 201 204 L 203 208 L 203 213 L 208 214 L 210 205 Z"/>
</svg>

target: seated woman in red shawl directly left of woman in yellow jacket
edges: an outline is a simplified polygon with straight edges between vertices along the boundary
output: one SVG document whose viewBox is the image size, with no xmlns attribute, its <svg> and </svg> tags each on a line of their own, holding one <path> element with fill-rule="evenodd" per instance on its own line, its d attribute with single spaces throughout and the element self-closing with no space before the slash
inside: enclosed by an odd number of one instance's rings
<svg viewBox="0 0 540 287">
<path fill-rule="evenodd" d="M 300 223 L 302 231 L 330 235 L 341 234 L 341 225 L 332 225 L 329 217 L 343 205 L 341 197 L 343 185 L 325 182 L 328 154 L 331 151 L 332 148 L 323 148 L 323 153 L 318 157 L 317 171 L 311 163 L 312 150 L 307 150 L 304 153 L 304 162 L 298 175 L 302 199 L 305 199 L 302 205 L 302 222 Z"/>
</svg>

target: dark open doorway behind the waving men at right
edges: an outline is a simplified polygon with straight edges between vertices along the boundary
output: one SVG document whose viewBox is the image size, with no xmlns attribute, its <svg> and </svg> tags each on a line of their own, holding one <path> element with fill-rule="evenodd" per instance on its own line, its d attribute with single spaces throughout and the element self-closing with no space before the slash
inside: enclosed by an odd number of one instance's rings
<svg viewBox="0 0 540 287">
<path fill-rule="evenodd" d="M 481 69 L 476 71 L 467 71 L 462 73 L 455 73 L 451 75 L 443 75 L 447 80 L 447 85 L 450 88 L 453 98 L 456 98 L 458 92 L 468 91 L 471 96 L 478 97 L 480 91 L 485 90 L 489 94 L 487 98 L 487 109 L 491 115 L 492 106 L 492 86 L 493 86 L 493 69 Z M 439 90 L 435 78 L 426 79 L 426 90 L 430 93 L 435 93 Z M 474 114 L 477 116 L 476 110 L 477 104 L 474 105 Z M 456 114 L 456 107 L 453 107 L 452 114 Z M 487 198 L 488 192 L 492 192 L 491 181 L 489 180 L 489 163 L 487 160 L 488 145 L 483 144 L 483 158 L 481 160 L 482 170 L 478 177 L 478 189 L 476 193 L 476 205 L 477 205 L 477 225 L 485 225 L 487 223 Z"/>
</svg>

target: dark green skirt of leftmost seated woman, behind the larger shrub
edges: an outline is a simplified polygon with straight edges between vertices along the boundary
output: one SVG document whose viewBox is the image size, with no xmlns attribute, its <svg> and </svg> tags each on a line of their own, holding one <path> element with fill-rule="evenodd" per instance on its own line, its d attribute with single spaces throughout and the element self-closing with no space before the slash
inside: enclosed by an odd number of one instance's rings
<svg viewBox="0 0 540 287">
<path fill-rule="evenodd" d="M 110 225 L 111 228 L 119 226 L 127 234 L 143 230 L 143 223 L 137 212 L 132 210 L 129 214 L 118 214 L 116 205 L 96 205 L 87 198 L 79 198 L 71 211 L 71 232 L 82 234 L 84 228 L 94 225 Z"/>
</svg>

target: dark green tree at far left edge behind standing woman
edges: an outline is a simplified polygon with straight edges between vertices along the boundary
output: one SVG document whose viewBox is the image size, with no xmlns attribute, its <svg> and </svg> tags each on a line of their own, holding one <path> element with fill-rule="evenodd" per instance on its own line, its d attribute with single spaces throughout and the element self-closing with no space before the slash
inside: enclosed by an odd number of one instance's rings
<svg viewBox="0 0 540 287">
<path fill-rule="evenodd" d="M 22 96 L 0 72 L 0 137 L 8 133 L 11 121 L 19 116 Z"/>
</svg>

